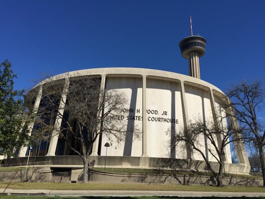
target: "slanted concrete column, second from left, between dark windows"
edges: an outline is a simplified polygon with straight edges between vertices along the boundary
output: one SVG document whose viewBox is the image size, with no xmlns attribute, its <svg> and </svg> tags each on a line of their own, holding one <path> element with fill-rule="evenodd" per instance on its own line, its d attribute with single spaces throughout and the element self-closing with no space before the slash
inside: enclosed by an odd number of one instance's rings
<svg viewBox="0 0 265 199">
<path fill-rule="evenodd" d="M 54 130 L 52 132 L 52 138 L 50 140 L 49 149 L 48 149 L 46 156 L 55 156 L 55 151 L 56 151 L 58 138 L 60 134 L 60 128 L 61 128 L 63 115 L 64 115 L 64 108 L 65 108 L 65 103 L 67 99 L 68 87 L 69 87 L 69 79 L 67 78 L 65 80 L 65 85 L 64 85 L 62 97 L 60 100 L 58 113 L 57 113 L 56 120 L 54 123 Z"/>
</svg>

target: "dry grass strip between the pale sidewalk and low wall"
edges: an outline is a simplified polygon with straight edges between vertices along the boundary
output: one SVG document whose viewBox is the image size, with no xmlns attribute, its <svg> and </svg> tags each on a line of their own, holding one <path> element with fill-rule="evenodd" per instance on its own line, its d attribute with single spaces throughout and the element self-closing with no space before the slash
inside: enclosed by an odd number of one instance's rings
<svg viewBox="0 0 265 199">
<path fill-rule="evenodd" d="M 8 182 L 0 182 L 0 188 L 5 188 Z M 264 187 L 241 186 L 183 186 L 154 184 L 97 184 L 97 183 L 21 183 L 12 182 L 9 189 L 42 189 L 42 190 L 140 190 L 140 191 L 201 191 L 201 192 L 265 192 Z"/>
</svg>

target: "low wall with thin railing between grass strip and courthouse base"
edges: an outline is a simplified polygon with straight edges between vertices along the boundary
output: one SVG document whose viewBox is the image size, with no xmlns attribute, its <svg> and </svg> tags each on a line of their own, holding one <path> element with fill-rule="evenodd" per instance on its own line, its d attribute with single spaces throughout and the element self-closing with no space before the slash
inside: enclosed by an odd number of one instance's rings
<svg viewBox="0 0 265 199">
<path fill-rule="evenodd" d="M 88 172 L 89 182 L 94 183 L 147 183 L 171 185 L 216 185 L 215 178 L 209 175 L 189 174 L 151 174 L 151 173 L 109 173 L 91 170 Z M 20 182 L 54 182 L 54 183 L 82 183 L 83 172 L 66 171 L 58 172 L 50 169 L 20 169 L 17 171 L 0 172 L 0 181 Z M 262 179 L 250 176 L 235 178 L 224 177 L 224 185 L 261 186 Z"/>
</svg>

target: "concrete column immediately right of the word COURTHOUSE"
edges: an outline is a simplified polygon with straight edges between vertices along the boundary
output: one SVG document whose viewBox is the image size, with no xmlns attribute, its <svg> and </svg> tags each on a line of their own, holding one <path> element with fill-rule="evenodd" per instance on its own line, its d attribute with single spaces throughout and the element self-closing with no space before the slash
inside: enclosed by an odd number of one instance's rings
<svg viewBox="0 0 265 199">
<path fill-rule="evenodd" d="M 187 112 L 187 103 L 186 103 L 186 96 L 185 96 L 185 87 L 184 83 L 180 82 L 180 96 L 181 96 L 181 104 L 182 104 L 182 111 L 183 111 L 183 125 L 188 126 L 188 112 Z M 193 158 L 193 150 L 190 144 L 186 143 L 186 153 L 187 159 L 194 159 Z"/>
</svg>

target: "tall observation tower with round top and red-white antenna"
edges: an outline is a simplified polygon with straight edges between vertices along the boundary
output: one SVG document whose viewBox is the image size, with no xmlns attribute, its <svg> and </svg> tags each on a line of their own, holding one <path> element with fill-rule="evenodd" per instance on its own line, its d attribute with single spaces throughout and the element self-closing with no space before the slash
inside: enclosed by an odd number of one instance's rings
<svg viewBox="0 0 265 199">
<path fill-rule="evenodd" d="M 189 76 L 200 79 L 199 57 L 205 53 L 206 39 L 192 35 L 191 17 L 189 19 L 191 36 L 182 39 L 179 48 L 182 57 L 188 59 Z"/>
</svg>

